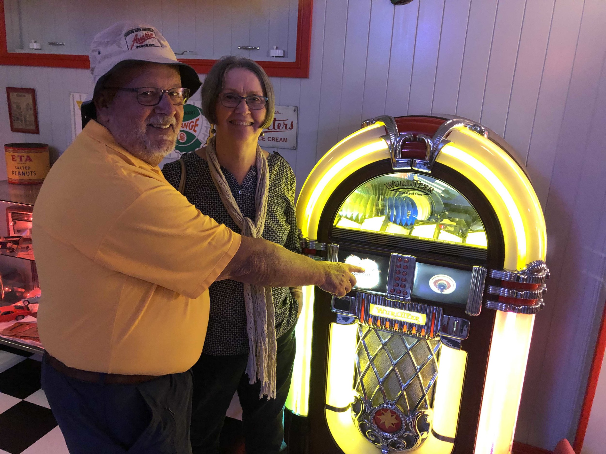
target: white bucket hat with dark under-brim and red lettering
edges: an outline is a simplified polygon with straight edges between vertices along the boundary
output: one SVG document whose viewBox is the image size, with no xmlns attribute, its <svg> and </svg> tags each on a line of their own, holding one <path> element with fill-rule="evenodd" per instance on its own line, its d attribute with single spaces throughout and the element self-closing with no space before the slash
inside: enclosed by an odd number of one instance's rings
<svg viewBox="0 0 606 454">
<path fill-rule="evenodd" d="M 121 21 L 100 31 L 90 44 L 88 58 L 95 88 L 110 71 L 133 61 L 176 65 L 181 73 L 181 85 L 189 88 L 190 96 L 202 85 L 196 70 L 177 60 L 158 28 L 142 22 Z M 92 94 L 89 98 L 92 99 Z M 95 117 L 92 101 L 82 104 L 82 114 Z"/>
</svg>

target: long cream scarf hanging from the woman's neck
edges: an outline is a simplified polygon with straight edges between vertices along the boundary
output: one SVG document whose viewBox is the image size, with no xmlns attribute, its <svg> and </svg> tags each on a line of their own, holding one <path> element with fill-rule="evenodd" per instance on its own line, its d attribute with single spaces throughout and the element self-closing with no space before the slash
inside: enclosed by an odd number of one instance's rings
<svg viewBox="0 0 606 454">
<path fill-rule="evenodd" d="M 238 203 L 231 194 L 231 189 L 221 171 L 215 150 L 215 137 L 206 147 L 206 156 L 210 176 L 215 183 L 219 196 L 231 216 L 231 219 L 241 229 L 242 235 L 260 238 L 265 226 L 267 213 L 268 166 L 267 159 L 257 145 L 256 168 L 257 190 L 255 194 L 255 222 L 244 217 Z M 276 397 L 276 323 L 271 297 L 271 287 L 244 284 L 244 303 L 246 308 L 246 330 L 248 332 L 248 363 L 246 373 L 249 383 L 261 382 L 259 398 L 267 395 Z"/>
</svg>

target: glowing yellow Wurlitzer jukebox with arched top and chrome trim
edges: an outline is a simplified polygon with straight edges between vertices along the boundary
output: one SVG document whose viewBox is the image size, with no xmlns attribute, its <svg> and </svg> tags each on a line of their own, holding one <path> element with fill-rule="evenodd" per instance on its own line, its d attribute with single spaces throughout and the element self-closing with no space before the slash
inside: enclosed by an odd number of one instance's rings
<svg viewBox="0 0 606 454">
<path fill-rule="evenodd" d="M 470 120 L 381 116 L 311 171 L 305 251 L 365 271 L 344 298 L 304 288 L 291 452 L 511 451 L 548 269 L 509 148 Z"/>
</svg>

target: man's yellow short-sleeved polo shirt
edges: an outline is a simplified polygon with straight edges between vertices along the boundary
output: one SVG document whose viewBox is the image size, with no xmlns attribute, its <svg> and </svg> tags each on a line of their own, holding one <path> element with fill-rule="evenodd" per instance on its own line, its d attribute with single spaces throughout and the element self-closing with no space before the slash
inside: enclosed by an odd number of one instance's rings
<svg viewBox="0 0 606 454">
<path fill-rule="evenodd" d="M 42 345 L 94 372 L 189 369 L 204 344 L 208 286 L 240 240 L 92 120 L 33 212 Z"/>
</svg>

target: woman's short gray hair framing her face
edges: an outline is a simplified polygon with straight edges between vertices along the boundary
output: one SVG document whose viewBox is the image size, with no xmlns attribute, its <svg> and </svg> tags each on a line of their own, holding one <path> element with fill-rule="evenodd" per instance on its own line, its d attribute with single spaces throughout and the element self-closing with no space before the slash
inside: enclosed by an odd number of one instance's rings
<svg viewBox="0 0 606 454">
<path fill-rule="evenodd" d="M 261 82 L 261 88 L 263 89 L 263 95 L 267 97 L 267 113 L 265 113 L 265 121 L 261 125 L 261 128 L 267 128 L 273 121 L 273 113 L 275 111 L 276 100 L 273 94 L 273 85 L 263 68 L 259 66 L 255 61 L 250 58 L 240 57 L 235 55 L 228 55 L 221 57 L 204 78 L 202 83 L 202 113 L 207 120 L 216 125 L 216 106 L 217 100 L 219 99 L 219 93 L 223 90 L 223 83 L 225 80 L 225 74 L 233 68 L 244 68 L 248 71 L 252 71 L 258 77 Z"/>
</svg>

